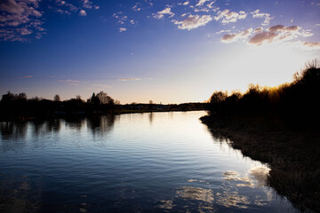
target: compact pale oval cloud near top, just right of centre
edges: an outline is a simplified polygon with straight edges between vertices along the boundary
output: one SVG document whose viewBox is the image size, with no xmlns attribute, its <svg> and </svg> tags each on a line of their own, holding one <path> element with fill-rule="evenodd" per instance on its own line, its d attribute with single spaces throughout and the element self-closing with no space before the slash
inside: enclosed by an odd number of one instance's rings
<svg viewBox="0 0 320 213">
<path fill-rule="evenodd" d="M 185 20 L 172 20 L 172 22 L 176 25 L 179 25 L 178 28 L 180 29 L 188 29 L 191 30 L 193 28 L 199 28 L 204 26 L 206 23 L 212 20 L 210 15 L 189 15 Z"/>
</svg>

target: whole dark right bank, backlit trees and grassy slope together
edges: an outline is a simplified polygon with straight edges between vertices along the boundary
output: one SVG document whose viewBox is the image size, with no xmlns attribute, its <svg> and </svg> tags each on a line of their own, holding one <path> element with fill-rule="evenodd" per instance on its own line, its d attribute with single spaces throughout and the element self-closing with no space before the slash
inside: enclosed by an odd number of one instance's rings
<svg viewBox="0 0 320 213">
<path fill-rule="evenodd" d="M 313 60 L 292 83 L 217 91 L 201 118 L 215 138 L 228 138 L 246 156 L 268 162 L 268 185 L 302 211 L 320 212 L 320 64 Z"/>
</svg>

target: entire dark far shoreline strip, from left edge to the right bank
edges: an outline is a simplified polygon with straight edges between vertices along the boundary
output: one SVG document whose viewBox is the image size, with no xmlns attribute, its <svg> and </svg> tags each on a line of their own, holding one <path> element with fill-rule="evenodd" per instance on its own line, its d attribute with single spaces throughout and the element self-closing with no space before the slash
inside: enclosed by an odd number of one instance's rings
<svg viewBox="0 0 320 213">
<path fill-rule="evenodd" d="M 32 98 L 27 99 L 26 93 L 13 94 L 8 91 L 0 101 L 0 120 L 43 120 L 59 117 L 81 117 L 100 114 L 124 114 L 165 111 L 188 111 L 205 109 L 205 103 L 185 103 L 162 105 L 155 104 L 151 100 L 148 104 L 132 103 L 120 105 L 120 102 L 112 99 L 106 92 L 92 94 L 90 99 L 84 101 L 78 95 L 76 99 L 61 101 L 56 95 L 53 100 Z"/>
</svg>

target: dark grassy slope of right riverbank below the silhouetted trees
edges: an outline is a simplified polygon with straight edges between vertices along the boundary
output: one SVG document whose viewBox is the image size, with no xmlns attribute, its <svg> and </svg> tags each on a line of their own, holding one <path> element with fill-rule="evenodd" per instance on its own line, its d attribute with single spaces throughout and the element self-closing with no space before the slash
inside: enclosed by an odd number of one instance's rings
<svg viewBox="0 0 320 213">
<path fill-rule="evenodd" d="M 212 137 L 270 166 L 268 185 L 302 211 L 320 211 L 320 138 L 316 130 L 290 130 L 257 117 L 204 116 Z M 262 119 L 263 120 L 263 119 Z"/>
</svg>

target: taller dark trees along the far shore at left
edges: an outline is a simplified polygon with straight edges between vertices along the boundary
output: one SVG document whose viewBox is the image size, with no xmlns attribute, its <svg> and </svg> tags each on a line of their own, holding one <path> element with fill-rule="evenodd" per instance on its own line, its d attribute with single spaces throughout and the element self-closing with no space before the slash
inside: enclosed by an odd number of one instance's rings
<svg viewBox="0 0 320 213">
<path fill-rule="evenodd" d="M 113 114 L 120 104 L 118 100 L 112 99 L 104 91 L 95 94 L 84 101 L 80 95 L 76 98 L 61 101 L 59 95 L 53 100 L 42 98 L 27 99 L 26 93 L 13 94 L 8 91 L 0 101 L 0 117 L 3 119 L 19 117 L 47 118 L 59 115 L 76 114 Z"/>
</svg>

